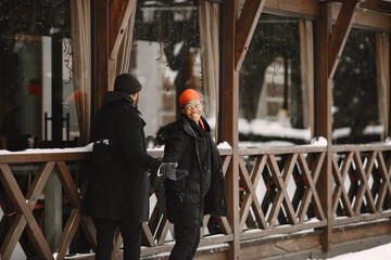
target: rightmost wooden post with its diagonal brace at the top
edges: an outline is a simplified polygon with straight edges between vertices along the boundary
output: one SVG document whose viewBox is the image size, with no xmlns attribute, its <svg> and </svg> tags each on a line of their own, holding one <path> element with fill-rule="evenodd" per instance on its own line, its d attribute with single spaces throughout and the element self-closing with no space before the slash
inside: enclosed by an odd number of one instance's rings
<svg viewBox="0 0 391 260">
<path fill-rule="evenodd" d="M 327 156 L 319 177 L 319 194 L 324 211 L 327 216 L 327 226 L 321 236 L 321 247 L 324 251 L 331 249 L 331 133 L 332 133 L 332 116 L 331 116 L 331 101 L 332 101 L 332 77 L 338 66 L 340 55 L 342 53 L 344 43 L 350 34 L 353 17 L 360 5 L 357 0 L 349 0 L 342 3 L 335 28 L 331 30 L 331 5 L 327 2 L 320 3 L 320 23 L 318 26 L 318 42 L 319 42 L 319 64 L 318 78 L 319 90 L 317 95 L 317 103 L 319 108 L 319 135 L 328 140 Z"/>
</svg>

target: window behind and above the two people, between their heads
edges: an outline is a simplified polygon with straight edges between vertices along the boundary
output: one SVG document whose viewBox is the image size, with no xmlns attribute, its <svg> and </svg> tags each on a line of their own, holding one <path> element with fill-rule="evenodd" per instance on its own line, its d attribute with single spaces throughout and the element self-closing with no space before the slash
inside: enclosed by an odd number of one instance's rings
<svg viewBox="0 0 391 260">
<path fill-rule="evenodd" d="M 149 140 L 180 115 L 177 101 L 185 89 L 203 93 L 200 55 L 193 1 L 138 1 L 129 70 L 142 84 L 138 106 Z"/>
</svg>

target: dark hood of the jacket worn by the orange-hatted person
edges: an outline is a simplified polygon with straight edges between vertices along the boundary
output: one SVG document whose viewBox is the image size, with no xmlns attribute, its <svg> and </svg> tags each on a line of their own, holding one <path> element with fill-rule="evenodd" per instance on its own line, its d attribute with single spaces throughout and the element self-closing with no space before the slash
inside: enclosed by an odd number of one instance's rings
<svg viewBox="0 0 391 260">
<path fill-rule="evenodd" d="M 207 123 L 206 119 L 203 116 L 201 116 L 201 119 L 204 123 L 205 132 L 211 132 L 211 127 Z M 178 120 L 176 120 L 175 122 L 171 122 L 159 129 L 159 131 L 156 133 L 157 143 L 160 145 L 165 144 L 165 141 L 168 139 L 168 136 L 179 130 L 184 130 L 189 135 L 195 136 L 194 129 L 191 127 L 191 125 L 192 123 L 191 123 L 190 119 L 187 116 L 185 116 L 184 114 L 181 114 L 181 116 L 179 117 Z"/>
</svg>

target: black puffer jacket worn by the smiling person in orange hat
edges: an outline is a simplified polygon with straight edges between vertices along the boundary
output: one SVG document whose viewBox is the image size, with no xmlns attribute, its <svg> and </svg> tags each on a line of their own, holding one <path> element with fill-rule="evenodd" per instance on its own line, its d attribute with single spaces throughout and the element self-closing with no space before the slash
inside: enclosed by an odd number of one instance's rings
<svg viewBox="0 0 391 260">
<path fill-rule="evenodd" d="M 157 141 L 165 144 L 163 161 L 178 162 L 177 169 L 189 172 L 180 181 L 165 180 L 167 218 L 172 223 L 187 226 L 202 226 L 203 214 L 227 214 L 226 195 L 223 179 L 222 159 L 216 144 L 210 134 L 210 126 L 205 126 L 204 138 L 211 145 L 211 187 L 203 196 L 203 180 L 200 151 L 195 141 L 192 122 L 185 115 L 173 123 L 161 128 Z M 204 161 L 203 161 L 204 162 Z"/>
</svg>

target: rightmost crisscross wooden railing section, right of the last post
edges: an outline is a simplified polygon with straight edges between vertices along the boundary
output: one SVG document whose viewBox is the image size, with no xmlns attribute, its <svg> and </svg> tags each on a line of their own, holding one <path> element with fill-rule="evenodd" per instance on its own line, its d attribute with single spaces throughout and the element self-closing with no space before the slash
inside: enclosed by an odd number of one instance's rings
<svg viewBox="0 0 391 260">
<path fill-rule="evenodd" d="M 333 146 L 333 225 L 391 217 L 391 146 Z"/>
</svg>

